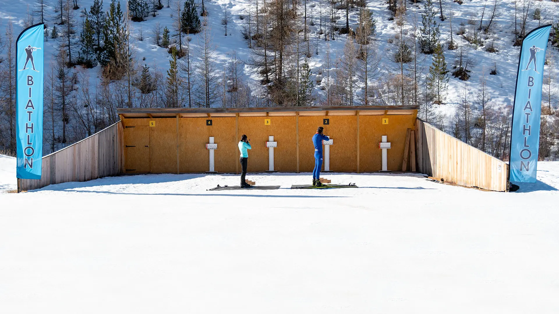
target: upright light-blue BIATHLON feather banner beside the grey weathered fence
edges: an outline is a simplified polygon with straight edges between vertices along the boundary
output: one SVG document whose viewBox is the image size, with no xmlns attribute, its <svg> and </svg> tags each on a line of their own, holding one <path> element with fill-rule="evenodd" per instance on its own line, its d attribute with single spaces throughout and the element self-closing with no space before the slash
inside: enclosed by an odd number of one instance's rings
<svg viewBox="0 0 559 314">
<path fill-rule="evenodd" d="M 40 179 L 42 159 L 43 24 L 27 27 L 16 41 L 16 138 L 20 179 Z"/>
</svg>

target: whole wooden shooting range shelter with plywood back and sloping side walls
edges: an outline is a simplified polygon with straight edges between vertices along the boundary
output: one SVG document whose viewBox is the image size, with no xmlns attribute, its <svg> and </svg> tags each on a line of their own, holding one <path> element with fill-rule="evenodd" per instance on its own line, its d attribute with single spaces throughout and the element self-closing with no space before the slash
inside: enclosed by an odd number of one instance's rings
<svg viewBox="0 0 559 314">
<path fill-rule="evenodd" d="M 419 120 L 417 112 L 418 106 L 119 108 L 119 122 L 44 156 L 41 179 L 22 179 L 19 186 L 26 191 L 121 174 L 239 173 L 243 134 L 252 145 L 248 172 L 311 172 L 311 137 L 323 126 L 331 139 L 327 171 L 417 171 L 506 191 L 503 161 Z"/>
</svg>

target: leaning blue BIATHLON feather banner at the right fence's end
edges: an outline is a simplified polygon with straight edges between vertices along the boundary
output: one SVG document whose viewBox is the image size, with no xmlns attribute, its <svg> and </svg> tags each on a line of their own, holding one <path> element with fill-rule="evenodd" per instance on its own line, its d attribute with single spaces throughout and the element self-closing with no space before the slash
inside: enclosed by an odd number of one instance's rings
<svg viewBox="0 0 559 314">
<path fill-rule="evenodd" d="M 543 63 L 551 25 L 534 29 L 520 48 L 510 135 L 510 181 L 536 182 Z"/>
</svg>

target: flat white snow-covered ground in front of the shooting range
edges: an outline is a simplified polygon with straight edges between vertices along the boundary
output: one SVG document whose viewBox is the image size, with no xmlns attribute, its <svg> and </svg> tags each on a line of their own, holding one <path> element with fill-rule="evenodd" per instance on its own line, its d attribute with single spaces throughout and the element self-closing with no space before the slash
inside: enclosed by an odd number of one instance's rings
<svg viewBox="0 0 559 314">
<path fill-rule="evenodd" d="M 483 192 L 411 174 L 360 188 L 206 191 L 235 175 L 15 189 L 0 156 L 1 313 L 557 313 L 559 162 Z"/>
</svg>

